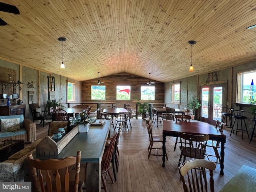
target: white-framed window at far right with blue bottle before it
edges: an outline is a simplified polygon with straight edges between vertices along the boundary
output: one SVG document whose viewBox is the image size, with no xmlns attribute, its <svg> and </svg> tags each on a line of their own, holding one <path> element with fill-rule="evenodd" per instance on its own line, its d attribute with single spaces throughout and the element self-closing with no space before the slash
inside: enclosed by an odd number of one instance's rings
<svg viewBox="0 0 256 192">
<path fill-rule="evenodd" d="M 249 103 L 249 99 L 256 98 L 256 90 L 253 83 L 256 71 L 238 73 L 237 76 L 237 102 Z"/>
</svg>

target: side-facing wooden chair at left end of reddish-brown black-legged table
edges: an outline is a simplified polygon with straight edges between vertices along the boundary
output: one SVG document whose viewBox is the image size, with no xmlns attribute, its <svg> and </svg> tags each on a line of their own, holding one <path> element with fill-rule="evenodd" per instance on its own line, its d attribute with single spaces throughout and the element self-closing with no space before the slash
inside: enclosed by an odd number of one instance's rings
<svg viewBox="0 0 256 192">
<path fill-rule="evenodd" d="M 150 141 L 150 144 L 148 146 L 148 158 L 150 157 L 150 155 L 154 155 L 154 156 L 163 156 L 162 154 L 158 154 L 158 149 L 162 150 L 162 148 L 153 148 L 153 144 L 155 142 L 160 142 L 163 143 L 163 136 L 162 135 L 153 135 L 152 134 L 152 126 L 151 126 L 151 122 L 150 122 L 150 118 L 146 118 L 146 124 L 147 124 L 147 129 L 148 129 L 148 140 Z M 156 154 L 151 154 L 151 150 L 152 149 L 156 149 Z M 164 153 L 164 151 L 163 151 Z M 167 153 L 165 151 L 165 156 L 166 156 L 166 160 L 168 160 L 168 156 Z"/>
</svg>

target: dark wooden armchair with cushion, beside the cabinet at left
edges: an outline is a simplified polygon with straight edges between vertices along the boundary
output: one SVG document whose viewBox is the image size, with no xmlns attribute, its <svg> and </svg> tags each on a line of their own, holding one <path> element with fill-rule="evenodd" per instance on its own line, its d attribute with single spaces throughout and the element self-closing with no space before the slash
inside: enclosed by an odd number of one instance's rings
<svg viewBox="0 0 256 192">
<path fill-rule="evenodd" d="M 38 103 L 29 104 L 29 108 L 32 114 L 33 122 L 35 122 L 35 120 L 40 120 L 40 124 L 43 123 L 43 127 L 44 127 L 45 120 L 52 119 L 52 115 L 49 115 L 48 111 L 41 110 Z M 47 115 L 45 115 L 44 113 L 47 113 Z"/>
</svg>

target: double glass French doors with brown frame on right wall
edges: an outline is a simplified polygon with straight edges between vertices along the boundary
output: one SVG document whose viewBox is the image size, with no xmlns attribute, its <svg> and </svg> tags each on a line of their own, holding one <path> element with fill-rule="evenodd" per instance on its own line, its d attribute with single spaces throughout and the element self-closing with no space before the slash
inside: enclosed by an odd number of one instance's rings
<svg viewBox="0 0 256 192">
<path fill-rule="evenodd" d="M 215 125 L 221 121 L 221 107 L 224 106 L 225 84 L 200 86 L 200 120 Z"/>
</svg>

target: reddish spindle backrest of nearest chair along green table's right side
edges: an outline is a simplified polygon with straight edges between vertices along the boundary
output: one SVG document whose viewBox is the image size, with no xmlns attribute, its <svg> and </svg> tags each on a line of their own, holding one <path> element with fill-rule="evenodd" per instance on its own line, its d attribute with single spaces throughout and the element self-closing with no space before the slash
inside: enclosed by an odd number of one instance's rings
<svg viewBox="0 0 256 192">
<path fill-rule="evenodd" d="M 113 150 L 115 147 L 116 138 L 118 133 L 120 133 L 120 131 L 121 129 L 114 134 L 112 140 L 110 141 L 110 144 L 108 145 L 107 150 L 103 154 L 102 161 L 101 161 L 101 173 L 104 173 L 110 169 L 111 158 L 112 158 Z"/>
</svg>

